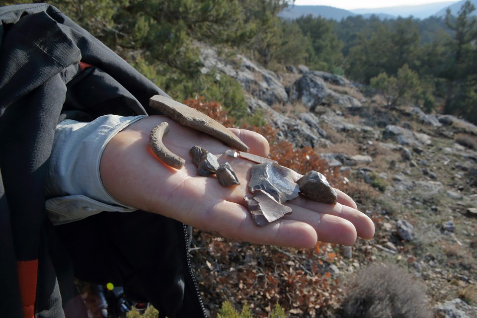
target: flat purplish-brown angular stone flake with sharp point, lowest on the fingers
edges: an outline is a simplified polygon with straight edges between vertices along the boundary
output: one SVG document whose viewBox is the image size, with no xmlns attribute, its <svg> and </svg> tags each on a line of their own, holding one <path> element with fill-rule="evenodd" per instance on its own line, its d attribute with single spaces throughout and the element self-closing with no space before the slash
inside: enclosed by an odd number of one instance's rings
<svg viewBox="0 0 477 318">
<path fill-rule="evenodd" d="M 259 227 L 292 213 L 292 208 L 280 204 L 270 194 L 260 189 L 255 190 L 252 198 L 245 197 L 244 199 L 253 221 Z"/>
</svg>

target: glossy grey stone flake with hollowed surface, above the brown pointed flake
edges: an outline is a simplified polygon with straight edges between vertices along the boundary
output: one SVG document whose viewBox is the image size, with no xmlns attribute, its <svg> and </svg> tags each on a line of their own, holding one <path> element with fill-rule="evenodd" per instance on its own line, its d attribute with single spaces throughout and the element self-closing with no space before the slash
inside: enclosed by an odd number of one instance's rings
<svg viewBox="0 0 477 318">
<path fill-rule="evenodd" d="M 275 162 L 255 164 L 250 169 L 250 192 L 261 189 L 270 194 L 279 203 L 298 197 L 300 188 L 293 181 L 293 172 Z"/>
</svg>

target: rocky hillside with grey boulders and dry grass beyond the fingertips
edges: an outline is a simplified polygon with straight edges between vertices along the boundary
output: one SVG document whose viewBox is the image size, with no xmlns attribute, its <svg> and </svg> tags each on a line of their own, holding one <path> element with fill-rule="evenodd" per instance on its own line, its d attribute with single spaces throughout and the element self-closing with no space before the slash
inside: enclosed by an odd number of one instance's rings
<svg viewBox="0 0 477 318">
<path fill-rule="evenodd" d="M 201 51 L 202 72 L 237 79 L 250 112 L 263 112 L 279 139 L 311 146 L 339 166 L 348 191 L 375 221 L 373 240 L 325 262 L 333 277 L 347 281 L 369 263 L 397 264 L 425 285 L 433 314 L 477 317 L 475 125 L 411 105 L 388 109 L 363 87 L 304 66 L 276 74 L 244 56 Z"/>
</svg>

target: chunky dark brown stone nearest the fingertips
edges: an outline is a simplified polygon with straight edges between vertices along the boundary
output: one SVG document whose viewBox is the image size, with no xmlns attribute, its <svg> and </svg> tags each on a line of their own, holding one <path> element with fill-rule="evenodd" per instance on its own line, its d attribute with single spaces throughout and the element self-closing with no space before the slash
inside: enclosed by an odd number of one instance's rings
<svg viewBox="0 0 477 318">
<path fill-rule="evenodd" d="M 336 204 L 338 195 L 321 173 L 310 171 L 301 177 L 297 184 L 300 186 L 300 192 L 313 201 Z"/>
</svg>

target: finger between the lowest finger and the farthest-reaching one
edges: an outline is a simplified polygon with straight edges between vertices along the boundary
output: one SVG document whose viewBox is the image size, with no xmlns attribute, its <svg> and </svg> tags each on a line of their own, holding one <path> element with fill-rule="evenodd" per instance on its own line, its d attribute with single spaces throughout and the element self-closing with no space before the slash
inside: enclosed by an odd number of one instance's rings
<svg viewBox="0 0 477 318">
<path fill-rule="evenodd" d="M 329 214 L 320 214 L 294 204 L 286 204 L 293 209 L 293 213 L 287 215 L 288 220 L 295 220 L 310 224 L 319 241 L 352 245 L 356 241 L 356 228 L 350 221 Z"/>
</svg>

